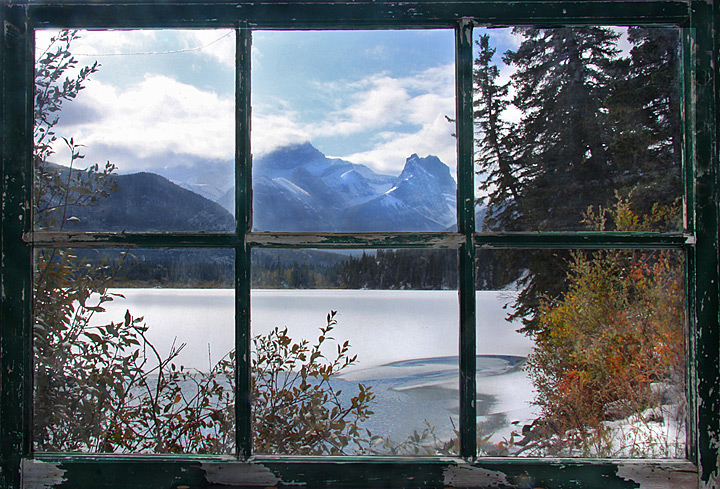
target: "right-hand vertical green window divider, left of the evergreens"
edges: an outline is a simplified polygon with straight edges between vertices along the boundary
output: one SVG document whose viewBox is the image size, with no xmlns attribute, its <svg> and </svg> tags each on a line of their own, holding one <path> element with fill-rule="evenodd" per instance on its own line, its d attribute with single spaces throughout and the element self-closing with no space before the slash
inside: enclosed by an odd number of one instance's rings
<svg viewBox="0 0 720 489">
<path fill-rule="evenodd" d="M 475 185 L 473 154 L 473 22 L 462 19 L 455 31 L 455 100 L 457 135 L 458 231 L 464 243 L 458 251 L 460 303 L 460 456 L 477 454 L 476 326 L 475 326 Z"/>
</svg>

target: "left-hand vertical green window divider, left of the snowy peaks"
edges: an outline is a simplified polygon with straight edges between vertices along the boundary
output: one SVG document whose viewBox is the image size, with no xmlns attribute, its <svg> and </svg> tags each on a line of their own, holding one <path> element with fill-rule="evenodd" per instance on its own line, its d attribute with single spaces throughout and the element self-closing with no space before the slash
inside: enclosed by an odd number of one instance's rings
<svg viewBox="0 0 720 489">
<path fill-rule="evenodd" d="M 235 439 L 238 457 L 252 454 L 250 358 L 250 252 L 252 153 L 250 148 L 250 57 L 252 32 L 235 30 Z"/>
</svg>

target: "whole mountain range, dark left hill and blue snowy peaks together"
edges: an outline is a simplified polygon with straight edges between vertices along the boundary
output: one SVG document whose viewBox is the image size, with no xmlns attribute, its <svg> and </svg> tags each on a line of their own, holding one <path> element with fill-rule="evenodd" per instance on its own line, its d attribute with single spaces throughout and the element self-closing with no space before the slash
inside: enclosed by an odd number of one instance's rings
<svg viewBox="0 0 720 489">
<path fill-rule="evenodd" d="M 231 164 L 162 173 L 115 175 L 117 190 L 95 206 L 69 209 L 65 229 L 234 230 Z M 253 162 L 255 231 L 445 231 L 455 227 L 455 196 L 450 169 L 436 156 L 411 155 L 397 176 L 328 158 L 310 143 Z"/>
</svg>

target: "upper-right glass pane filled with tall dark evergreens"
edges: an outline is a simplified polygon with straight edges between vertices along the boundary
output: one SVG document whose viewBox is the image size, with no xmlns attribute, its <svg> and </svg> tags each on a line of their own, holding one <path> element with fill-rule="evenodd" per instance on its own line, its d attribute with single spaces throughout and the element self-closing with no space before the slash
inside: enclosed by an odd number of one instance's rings
<svg viewBox="0 0 720 489">
<path fill-rule="evenodd" d="M 587 230 L 618 199 L 675 218 L 604 230 L 683 229 L 679 33 L 474 31 L 478 231 Z"/>
</svg>

